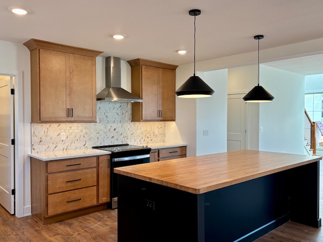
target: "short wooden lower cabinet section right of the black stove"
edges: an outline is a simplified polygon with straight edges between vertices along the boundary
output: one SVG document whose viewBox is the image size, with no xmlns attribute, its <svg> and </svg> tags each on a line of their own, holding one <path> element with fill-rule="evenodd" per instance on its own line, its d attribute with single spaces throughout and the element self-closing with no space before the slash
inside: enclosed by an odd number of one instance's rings
<svg viewBox="0 0 323 242">
<path fill-rule="evenodd" d="M 150 162 L 178 159 L 184 157 L 186 157 L 186 146 L 152 149 L 150 152 Z"/>
</svg>

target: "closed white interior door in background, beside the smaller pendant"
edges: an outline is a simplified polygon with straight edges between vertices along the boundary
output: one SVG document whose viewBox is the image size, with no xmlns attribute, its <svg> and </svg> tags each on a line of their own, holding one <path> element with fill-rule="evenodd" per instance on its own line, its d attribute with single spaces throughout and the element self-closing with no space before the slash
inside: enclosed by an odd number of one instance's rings
<svg viewBox="0 0 323 242">
<path fill-rule="evenodd" d="M 228 94 L 227 150 L 246 149 L 246 103 L 243 94 Z"/>
</svg>

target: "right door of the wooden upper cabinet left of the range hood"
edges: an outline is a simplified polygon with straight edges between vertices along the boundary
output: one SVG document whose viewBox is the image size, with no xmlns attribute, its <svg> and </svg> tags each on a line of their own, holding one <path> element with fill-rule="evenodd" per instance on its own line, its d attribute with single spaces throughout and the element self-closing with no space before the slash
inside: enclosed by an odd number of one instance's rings
<svg viewBox="0 0 323 242">
<path fill-rule="evenodd" d="M 71 120 L 96 122 L 95 58 L 70 55 Z"/>
</svg>

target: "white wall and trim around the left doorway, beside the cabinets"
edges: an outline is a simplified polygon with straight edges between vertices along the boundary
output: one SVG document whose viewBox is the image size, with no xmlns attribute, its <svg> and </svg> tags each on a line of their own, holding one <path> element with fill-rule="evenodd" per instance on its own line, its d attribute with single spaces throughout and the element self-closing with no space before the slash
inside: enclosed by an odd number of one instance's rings
<svg viewBox="0 0 323 242">
<path fill-rule="evenodd" d="M 30 207 L 30 58 L 29 50 L 22 44 L 0 41 L 0 70 L 5 75 L 21 74 L 16 82 L 15 108 L 18 109 L 18 124 L 15 131 L 19 132 L 18 154 L 16 154 L 16 216 L 22 217 L 31 213 Z M 21 131 L 21 133 L 20 133 Z"/>
</svg>

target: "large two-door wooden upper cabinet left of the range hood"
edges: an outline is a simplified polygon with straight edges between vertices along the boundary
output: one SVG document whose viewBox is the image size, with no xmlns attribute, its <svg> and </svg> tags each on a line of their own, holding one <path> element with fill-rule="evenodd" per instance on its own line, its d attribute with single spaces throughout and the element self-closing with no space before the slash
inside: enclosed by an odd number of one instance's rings
<svg viewBox="0 0 323 242">
<path fill-rule="evenodd" d="M 31 39 L 31 122 L 96 122 L 95 61 L 101 51 Z"/>
</svg>

